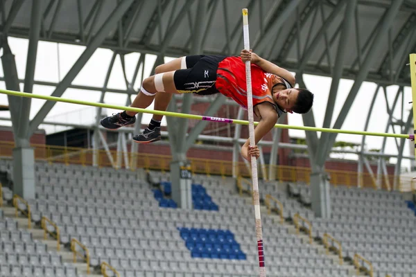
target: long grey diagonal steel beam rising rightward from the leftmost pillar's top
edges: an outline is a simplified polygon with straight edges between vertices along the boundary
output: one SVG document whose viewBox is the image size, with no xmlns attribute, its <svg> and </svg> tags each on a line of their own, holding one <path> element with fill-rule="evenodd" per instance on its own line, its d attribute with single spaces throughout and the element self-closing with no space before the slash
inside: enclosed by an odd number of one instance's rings
<svg viewBox="0 0 416 277">
<path fill-rule="evenodd" d="M 72 68 L 69 70 L 67 75 L 64 77 L 64 79 L 58 84 L 58 87 L 56 87 L 55 91 L 51 94 L 51 96 L 60 97 L 62 96 L 62 93 L 67 89 L 69 84 L 73 81 L 73 79 L 76 78 L 76 75 L 80 72 L 81 69 L 83 69 L 83 66 L 87 63 L 89 60 L 89 57 L 91 57 L 94 52 L 96 51 L 96 48 L 101 45 L 101 43 L 104 41 L 105 37 L 107 36 L 108 32 L 116 26 L 116 22 L 119 21 L 119 19 L 123 16 L 125 10 L 127 10 L 133 0 L 123 0 L 117 6 L 114 11 L 111 13 L 111 15 L 107 18 L 105 23 L 103 24 L 102 28 L 98 30 L 96 36 L 94 39 L 92 39 L 92 42 L 85 48 L 85 51 L 83 54 L 80 55 L 78 60 L 73 64 Z M 31 121 L 30 124 L 30 130 L 29 135 L 33 134 L 37 126 L 42 123 L 42 120 L 44 120 L 45 116 L 51 111 L 53 106 L 55 105 L 55 102 L 47 101 L 40 111 L 37 112 L 35 118 Z"/>
</svg>

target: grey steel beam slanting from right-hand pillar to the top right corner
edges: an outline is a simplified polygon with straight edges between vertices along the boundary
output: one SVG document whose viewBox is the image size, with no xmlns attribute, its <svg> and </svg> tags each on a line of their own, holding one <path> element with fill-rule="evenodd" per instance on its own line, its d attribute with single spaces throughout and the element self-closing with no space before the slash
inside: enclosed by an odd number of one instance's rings
<svg viewBox="0 0 416 277">
<path fill-rule="evenodd" d="M 397 0 L 392 3 L 390 10 L 388 10 L 387 15 L 383 19 L 383 23 L 380 26 L 381 30 L 388 30 L 388 28 L 390 28 L 390 25 L 392 24 L 393 19 L 395 19 L 402 2 L 403 0 Z M 370 47 L 370 50 L 368 54 L 365 56 L 365 59 L 363 61 L 363 66 L 361 66 L 360 72 L 358 73 L 358 76 L 351 90 L 349 91 L 349 94 L 347 96 L 347 99 L 345 100 L 343 108 L 341 109 L 340 114 L 338 115 L 338 118 L 335 124 L 333 125 L 333 129 L 340 129 L 340 127 L 342 127 L 345 121 L 345 118 L 347 117 L 349 107 L 352 106 L 352 103 L 354 102 L 354 99 L 356 97 L 356 94 L 358 93 L 358 90 L 361 87 L 361 84 L 364 82 L 365 78 L 367 77 L 367 73 L 370 70 L 370 66 L 374 58 L 376 57 L 376 53 L 378 52 L 378 49 L 382 45 L 381 40 L 384 38 L 384 36 L 385 36 L 385 33 L 381 32 L 379 33 L 377 37 L 374 38 L 372 46 Z M 321 143 L 325 142 L 327 145 L 327 148 L 323 150 L 322 152 L 317 153 L 318 155 L 317 162 L 320 166 L 323 166 L 324 161 L 326 157 L 328 157 L 329 151 L 335 139 L 336 139 L 336 134 L 331 134 L 327 136 L 326 141 L 321 142 Z"/>
</svg>

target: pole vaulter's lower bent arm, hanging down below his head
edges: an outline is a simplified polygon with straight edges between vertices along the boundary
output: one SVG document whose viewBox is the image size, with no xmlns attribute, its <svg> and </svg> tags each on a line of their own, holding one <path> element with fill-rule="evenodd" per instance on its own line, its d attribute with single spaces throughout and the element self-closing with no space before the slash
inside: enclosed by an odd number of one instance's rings
<svg viewBox="0 0 416 277">
<path fill-rule="evenodd" d="M 272 105 L 264 103 L 258 105 L 257 107 L 259 107 L 261 120 L 259 121 L 259 124 L 254 128 L 254 141 L 256 142 L 256 145 L 263 138 L 263 136 L 266 136 L 266 134 L 270 132 L 273 127 L 275 127 L 277 118 L 279 118 L 275 108 L 272 107 Z M 245 141 L 244 145 L 241 147 L 241 154 L 243 155 L 243 158 L 248 161 L 250 161 L 250 157 L 248 157 L 249 145 L 250 139 Z"/>
</svg>

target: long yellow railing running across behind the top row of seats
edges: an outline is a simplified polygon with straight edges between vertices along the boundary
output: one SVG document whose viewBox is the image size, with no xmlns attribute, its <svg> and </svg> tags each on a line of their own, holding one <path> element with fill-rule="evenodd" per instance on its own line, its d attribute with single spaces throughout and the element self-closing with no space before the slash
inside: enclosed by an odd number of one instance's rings
<svg viewBox="0 0 416 277">
<path fill-rule="evenodd" d="M 0 142 L 0 157 L 12 157 L 12 149 L 14 147 L 13 142 Z M 117 152 L 116 150 L 110 150 L 107 154 L 105 150 L 93 150 L 86 148 L 70 148 L 70 147 L 61 147 L 55 145 L 39 145 L 32 144 L 31 147 L 35 150 L 35 159 L 37 161 L 47 161 L 49 163 L 64 163 L 64 164 L 80 164 L 83 166 L 92 166 L 93 156 L 97 155 L 98 166 L 99 167 L 111 167 L 112 161 L 108 155 L 112 157 L 113 161 L 116 161 Z M 124 152 L 121 152 L 124 154 Z M 157 154 L 131 154 L 128 153 L 128 156 L 135 156 L 135 159 L 129 161 L 130 168 L 144 168 L 145 170 L 162 170 L 169 171 L 171 156 L 167 155 L 157 155 Z M 132 161 L 135 161 L 135 165 L 132 164 Z M 245 163 L 239 162 L 233 164 L 232 161 L 223 161 L 216 159 L 199 159 L 199 158 L 189 158 L 191 161 L 191 172 L 193 174 L 205 174 L 205 175 L 220 175 L 222 177 L 232 176 L 233 167 L 236 171 L 236 174 L 241 177 L 250 178 L 250 170 L 247 168 Z M 122 165 L 125 167 L 126 165 Z M 310 183 L 310 173 L 311 168 L 300 167 L 300 166 L 273 166 L 275 171 L 275 179 L 281 182 L 302 182 L 305 184 Z M 265 170 L 259 170 L 260 179 L 268 179 L 268 166 Z M 343 170 L 326 170 L 327 173 L 331 176 L 331 185 L 333 186 L 358 186 L 358 179 L 361 180 L 362 184 L 365 184 L 368 188 L 374 188 L 375 184 L 372 176 L 369 173 L 350 172 Z M 265 172 L 266 176 L 263 176 Z M 375 176 L 377 177 L 377 176 Z M 404 187 L 414 187 L 412 183 L 412 178 L 399 178 L 395 175 L 388 175 L 388 179 L 385 178 L 385 175 L 381 176 L 381 187 L 388 188 L 388 181 L 390 184 L 393 184 L 394 181 L 397 181 L 399 188 Z M 410 185 L 412 184 L 412 185 Z"/>
</svg>

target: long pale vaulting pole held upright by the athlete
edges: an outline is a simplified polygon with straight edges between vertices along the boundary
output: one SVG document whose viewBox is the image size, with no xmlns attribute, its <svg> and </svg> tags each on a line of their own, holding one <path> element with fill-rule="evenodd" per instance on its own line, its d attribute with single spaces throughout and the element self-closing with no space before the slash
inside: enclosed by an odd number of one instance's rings
<svg viewBox="0 0 416 277">
<path fill-rule="evenodd" d="M 250 51 L 250 35 L 248 32 L 248 9 L 243 8 L 243 35 L 244 48 Z M 255 146 L 254 139 L 254 116 L 253 116 L 253 98 L 251 83 L 251 61 L 245 62 L 245 80 L 247 83 L 247 107 L 248 107 L 248 130 L 250 134 L 250 146 Z M 260 215 L 260 197 L 259 197 L 259 179 L 257 178 L 257 159 L 248 154 L 252 166 L 252 187 L 253 187 L 253 204 L 254 215 L 256 218 L 256 236 L 257 249 L 259 253 L 259 276 L 266 277 L 266 267 L 264 267 L 264 251 L 263 251 L 263 232 L 261 231 L 261 215 Z"/>
</svg>

